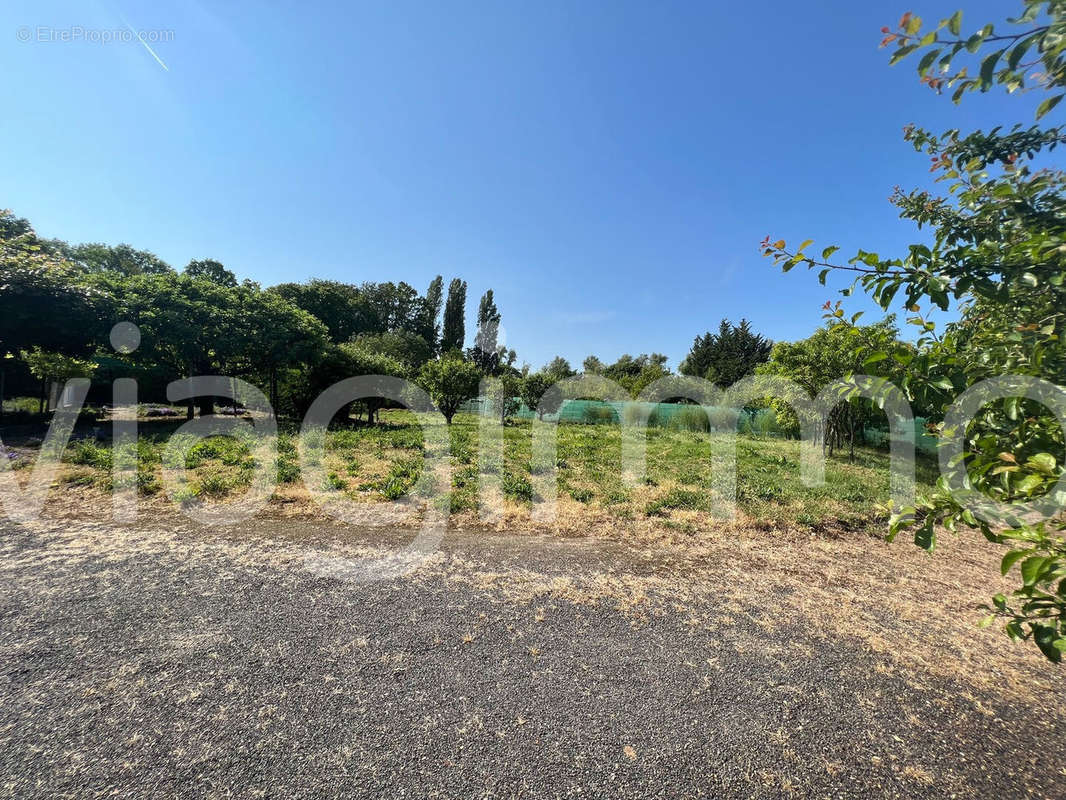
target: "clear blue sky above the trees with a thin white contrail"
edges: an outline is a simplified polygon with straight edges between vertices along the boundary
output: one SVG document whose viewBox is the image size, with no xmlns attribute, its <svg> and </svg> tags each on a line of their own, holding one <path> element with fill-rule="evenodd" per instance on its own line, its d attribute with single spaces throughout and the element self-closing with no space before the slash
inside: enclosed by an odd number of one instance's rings
<svg viewBox="0 0 1066 800">
<path fill-rule="evenodd" d="M 676 366 L 723 317 L 774 339 L 821 323 L 838 295 L 776 271 L 763 236 L 916 240 L 887 202 L 928 180 L 905 124 L 1032 119 L 887 65 L 883 25 L 955 2 L 289 5 L 5 3 L 0 205 L 263 285 L 459 275 L 468 338 L 492 288 L 520 362 Z M 968 2 L 964 29 L 1015 6 Z M 126 22 L 173 32 L 165 69 L 138 43 L 37 41 Z"/>
</svg>

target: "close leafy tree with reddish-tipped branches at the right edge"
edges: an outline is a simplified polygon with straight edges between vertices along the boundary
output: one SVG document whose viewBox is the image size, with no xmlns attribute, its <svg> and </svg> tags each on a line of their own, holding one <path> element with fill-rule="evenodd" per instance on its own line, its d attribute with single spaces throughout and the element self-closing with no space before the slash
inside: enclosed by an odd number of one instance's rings
<svg viewBox="0 0 1066 800">
<path fill-rule="evenodd" d="M 908 13 L 894 31 L 884 30 L 882 44 L 894 44 L 892 63 L 921 52 L 921 82 L 937 93 L 951 90 L 956 102 L 968 92 L 996 86 L 1016 95 L 1022 87 L 1047 91 L 1036 109 L 1040 118 L 1066 87 L 1066 2 L 1024 0 L 1021 14 L 1008 23 L 1014 28 L 1006 32 L 985 25 L 967 36 L 962 12 L 933 29 Z M 768 237 L 764 254 L 786 271 L 800 265 L 818 269 L 823 283 L 829 272 L 851 272 L 853 288 L 866 290 L 884 308 L 902 297 L 912 315 L 908 321 L 920 332 L 918 352 L 900 354 L 907 367 L 905 388 L 922 402 L 946 407 L 967 387 L 1005 373 L 1061 388 L 1066 383 L 1066 174 L 1034 160 L 1066 142 L 1066 129 L 1016 125 L 1010 131 L 934 135 L 908 126 L 904 137 L 930 157 L 932 171 L 948 187 L 943 194 L 897 191 L 892 197 L 903 219 L 932 230 L 932 242 L 911 244 L 898 257 L 860 250 L 841 262 L 833 258 L 839 247 L 808 253 L 810 241 L 788 247 Z M 952 301 L 962 320 L 938 333 L 921 304 L 946 309 Z M 842 309 L 830 315 L 849 324 Z M 914 527 L 916 544 L 933 549 L 938 526 L 965 525 L 1007 545 L 1003 573 L 1018 565 L 1021 586 L 994 598 L 988 622 L 1004 619 L 1011 637 L 1032 639 L 1046 657 L 1061 661 L 1066 651 L 1066 497 L 1056 487 L 1064 471 L 1056 418 L 1019 396 L 986 404 L 965 431 L 941 432 L 946 442 L 960 438 L 964 448 L 947 477 L 965 479 L 979 497 L 994 498 L 1007 511 L 975 513 L 941 482 L 915 508 L 893 515 L 889 535 Z M 1044 519 L 1024 513 L 1022 503 L 1037 497 L 1053 500 L 1057 512 Z"/>
</svg>

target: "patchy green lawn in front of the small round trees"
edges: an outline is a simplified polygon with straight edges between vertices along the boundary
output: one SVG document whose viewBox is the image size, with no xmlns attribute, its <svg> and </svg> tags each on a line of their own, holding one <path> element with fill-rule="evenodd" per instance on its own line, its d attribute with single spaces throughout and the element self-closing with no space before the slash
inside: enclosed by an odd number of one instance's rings
<svg viewBox="0 0 1066 800">
<path fill-rule="evenodd" d="M 138 485 L 146 496 L 159 496 L 165 449 L 178 420 L 143 419 L 138 446 Z M 443 429 L 443 421 L 437 425 Z M 108 426 L 101 426 L 107 430 Z M 282 423 L 278 436 L 278 486 L 275 503 L 296 503 L 313 513 L 304 487 L 296 454 L 294 427 Z M 532 423 L 508 422 L 503 429 L 503 464 L 499 487 L 508 519 L 528 518 L 535 499 L 532 467 Z M 712 508 L 710 458 L 715 433 L 647 430 L 647 470 L 635 487 L 621 479 L 621 432 L 617 425 L 560 425 L 556 467 L 559 509 L 563 527 L 625 526 L 653 522 L 682 531 L 716 523 Z M 479 418 L 456 415 L 448 430 L 451 486 L 437 491 L 438 502 L 461 521 L 478 514 Z M 9 437 L 5 436 L 5 439 Z M 12 439 L 16 442 L 17 439 Z M 29 447 L 15 450 L 16 466 L 28 466 Z M 424 458 L 422 430 L 414 415 L 387 411 L 376 426 L 335 427 L 325 438 L 325 480 L 318 490 L 343 493 L 358 502 L 384 502 L 410 495 L 421 476 Z M 441 453 L 442 454 L 442 453 Z M 800 443 L 742 434 L 737 437 L 737 500 L 744 523 L 764 528 L 879 529 L 887 516 L 887 452 L 858 448 L 854 461 L 846 454 L 829 458 L 825 484 L 805 486 L 800 477 Z M 60 481 L 107 491 L 111 485 L 110 442 L 92 435 L 68 446 Z M 245 443 L 212 437 L 185 453 L 189 481 L 179 500 L 224 500 L 240 496 L 251 485 L 255 459 Z M 935 479 L 935 464 L 918 462 L 919 490 Z M 432 485 L 432 484 L 431 484 Z"/>
</svg>

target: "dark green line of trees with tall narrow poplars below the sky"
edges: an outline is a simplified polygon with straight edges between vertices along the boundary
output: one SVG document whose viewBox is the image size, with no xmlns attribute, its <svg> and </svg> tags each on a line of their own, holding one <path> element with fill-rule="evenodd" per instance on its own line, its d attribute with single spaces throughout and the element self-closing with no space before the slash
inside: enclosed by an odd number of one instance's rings
<svg viewBox="0 0 1066 800">
<path fill-rule="evenodd" d="M 11 211 L 0 212 L 0 353 L 14 385 L 19 369 L 46 388 L 96 378 L 94 391 L 106 402 L 112 380 L 133 377 L 144 400 L 159 400 L 175 379 L 230 375 L 262 387 L 277 412 L 300 416 L 337 381 L 383 374 L 422 385 L 450 422 L 485 377 L 499 379 L 494 400 L 506 418 L 518 400 L 536 409 L 550 386 L 578 374 L 562 356 L 537 370 L 517 367 L 516 352 L 499 342 L 502 316 L 491 289 L 481 297 L 473 341 L 465 347 L 467 283 L 458 277 L 447 292 L 440 275 L 424 292 L 404 282 L 320 278 L 263 288 L 215 259 L 193 259 L 179 271 L 129 244 L 44 239 Z M 141 331 L 132 352 L 115 352 L 109 341 L 119 321 Z M 723 320 L 695 337 L 679 372 L 725 387 L 765 368 L 773 353 L 773 342 L 747 320 Z M 830 366 L 837 365 L 823 365 L 823 372 Z M 589 355 L 581 371 L 633 397 L 673 374 L 662 353 L 627 353 L 610 364 Z M 194 406 L 211 414 L 215 402 L 197 398 L 187 414 Z M 368 421 L 379 404 L 360 404 Z"/>
</svg>

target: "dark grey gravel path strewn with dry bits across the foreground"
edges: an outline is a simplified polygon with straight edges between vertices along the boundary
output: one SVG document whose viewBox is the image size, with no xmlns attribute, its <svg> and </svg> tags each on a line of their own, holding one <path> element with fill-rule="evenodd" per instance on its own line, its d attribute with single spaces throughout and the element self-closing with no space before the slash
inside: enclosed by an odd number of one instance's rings
<svg viewBox="0 0 1066 800">
<path fill-rule="evenodd" d="M 306 569 L 379 539 L 5 524 L 0 793 L 1066 796 L 1047 708 L 796 619 L 706 624 L 713 593 L 636 602 L 617 548 L 451 535 L 407 577 Z"/>
</svg>

